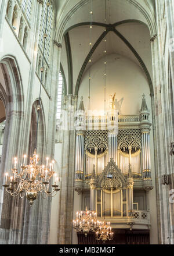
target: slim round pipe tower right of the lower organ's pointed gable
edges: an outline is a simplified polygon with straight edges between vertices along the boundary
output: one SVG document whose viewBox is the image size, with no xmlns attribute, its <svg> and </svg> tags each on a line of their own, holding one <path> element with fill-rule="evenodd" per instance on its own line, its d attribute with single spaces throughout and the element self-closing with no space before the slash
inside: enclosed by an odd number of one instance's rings
<svg viewBox="0 0 174 256">
<path fill-rule="evenodd" d="M 133 179 L 132 178 L 128 178 L 126 180 L 126 186 L 127 186 L 127 190 L 126 190 L 126 200 L 127 200 L 127 212 L 128 212 L 128 216 L 131 216 L 131 212 L 133 210 Z"/>
</svg>

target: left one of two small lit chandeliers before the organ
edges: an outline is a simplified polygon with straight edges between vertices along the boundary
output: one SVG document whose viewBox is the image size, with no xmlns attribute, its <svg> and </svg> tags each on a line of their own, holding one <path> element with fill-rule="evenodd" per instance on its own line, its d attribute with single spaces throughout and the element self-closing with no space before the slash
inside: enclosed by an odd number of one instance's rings
<svg viewBox="0 0 174 256">
<path fill-rule="evenodd" d="M 85 236 L 89 232 L 96 232 L 99 226 L 97 221 L 97 213 L 95 211 L 88 211 L 87 207 L 85 211 L 77 212 L 75 221 L 73 220 L 73 227 L 76 232 L 82 232 Z"/>
</svg>

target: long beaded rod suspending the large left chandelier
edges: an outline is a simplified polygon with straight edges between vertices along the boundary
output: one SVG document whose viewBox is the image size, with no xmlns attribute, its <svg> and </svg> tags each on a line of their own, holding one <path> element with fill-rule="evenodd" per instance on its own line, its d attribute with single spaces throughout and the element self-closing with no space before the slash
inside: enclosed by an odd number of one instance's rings
<svg viewBox="0 0 174 256">
<path fill-rule="evenodd" d="M 45 44 L 46 44 L 46 37 L 47 37 L 47 26 L 48 26 L 48 13 L 49 13 L 49 6 L 50 2 L 46 2 L 47 11 L 46 11 L 46 24 L 45 24 L 45 34 L 44 34 L 44 50 L 43 50 L 43 56 L 42 56 L 42 67 L 41 67 L 41 79 L 40 79 L 40 89 L 39 89 L 39 105 L 37 108 L 38 116 L 37 116 L 37 131 L 36 131 L 36 137 L 35 137 L 35 150 L 37 150 L 37 138 L 38 138 L 38 123 L 39 123 L 39 112 L 41 111 L 41 88 L 42 88 L 42 76 L 44 72 L 44 57 L 45 57 Z"/>
</svg>

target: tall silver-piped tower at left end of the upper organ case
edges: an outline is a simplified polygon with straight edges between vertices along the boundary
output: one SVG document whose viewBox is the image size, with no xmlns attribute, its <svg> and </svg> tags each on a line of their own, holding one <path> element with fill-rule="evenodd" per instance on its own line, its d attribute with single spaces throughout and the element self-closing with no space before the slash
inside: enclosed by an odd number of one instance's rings
<svg viewBox="0 0 174 256">
<path fill-rule="evenodd" d="M 75 145 L 75 181 L 84 180 L 84 137 L 85 131 L 77 131 Z"/>
</svg>

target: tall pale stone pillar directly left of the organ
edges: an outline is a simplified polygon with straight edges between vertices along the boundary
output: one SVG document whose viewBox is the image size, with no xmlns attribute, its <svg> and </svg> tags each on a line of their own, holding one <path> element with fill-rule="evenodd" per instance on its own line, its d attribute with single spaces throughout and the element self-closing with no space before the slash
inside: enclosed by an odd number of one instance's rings
<svg viewBox="0 0 174 256">
<path fill-rule="evenodd" d="M 63 130 L 61 185 L 57 243 L 71 244 L 73 200 L 74 200 L 74 169 L 75 169 L 75 130 L 74 112 L 77 109 L 77 97 L 67 95 L 65 98 L 64 112 L 67 112 L 68 129 Z"/>
</svg>

